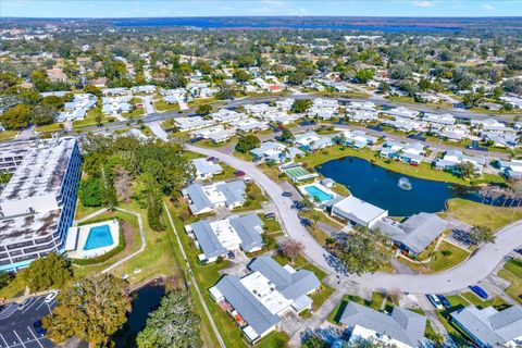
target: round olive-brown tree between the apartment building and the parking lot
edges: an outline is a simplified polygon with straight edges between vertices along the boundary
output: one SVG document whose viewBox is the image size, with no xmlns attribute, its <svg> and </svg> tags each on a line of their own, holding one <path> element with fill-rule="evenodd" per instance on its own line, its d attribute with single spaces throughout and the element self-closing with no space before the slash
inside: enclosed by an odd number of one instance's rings
<svg viewBox="0 0 522 348">
<path fill-rule="evenodd" d="M 51 252 L 33 261 L 23 276 L 33 291 L 61 288 L 73 277 L 73 266 L 65 257 Z"/>
</svg>

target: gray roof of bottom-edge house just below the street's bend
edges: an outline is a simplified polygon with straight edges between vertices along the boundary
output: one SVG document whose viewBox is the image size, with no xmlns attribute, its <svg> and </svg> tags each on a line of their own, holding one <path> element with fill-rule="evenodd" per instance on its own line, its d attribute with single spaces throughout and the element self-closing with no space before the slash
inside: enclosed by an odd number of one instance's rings
<svg viewBox="0 0 522 348">
<path fill-rule="evenodd" d="M 359 325 L 393 339 L 418 347 L 424 339 L 426 318 L 410 310 L 394 307 L 390 315 L 356 302 L 349 302 L 339 320 L 348 327 Z"/>
</svg>

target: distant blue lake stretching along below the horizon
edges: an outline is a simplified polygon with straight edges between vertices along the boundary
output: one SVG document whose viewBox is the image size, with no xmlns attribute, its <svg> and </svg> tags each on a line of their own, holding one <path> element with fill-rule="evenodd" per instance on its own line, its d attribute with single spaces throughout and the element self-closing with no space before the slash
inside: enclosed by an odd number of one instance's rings
<svg viewBox="0 0 522 348">
<path fill-rule="evenodd" d="M 293 29 L 335 29 L 335 30 L 363 30 L 363 32 L 459 32 L 459 27 L 423 27 L 423 26 L 403 26 L 403 25 L 358 25 L 339 24 L 332 21 L 316 20 L 313 23 L 295 23 L 289 18 L 256 18 L 249 17 L 165 17 L 165 18 L 119 18 L 113 20 L 112 24 L 120 27 L 130 26 L 194 26 L 199 28 L 293 28 Z M 335 20 L 334 20 L 335 22 Z"/>
</svg>

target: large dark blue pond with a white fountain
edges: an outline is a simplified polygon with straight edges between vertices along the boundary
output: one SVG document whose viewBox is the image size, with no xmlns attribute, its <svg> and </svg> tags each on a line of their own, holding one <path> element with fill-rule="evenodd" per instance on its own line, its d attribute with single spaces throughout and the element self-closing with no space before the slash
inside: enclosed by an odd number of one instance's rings
<svg viewBox="0 0 522 348">
<path fill-rule="evenodd" d="M 451 198 L 483 201 L 482 196 L 472 188 L 391 172 L 357 157 L 328 161 L 315 170 L 345 185 L 356 197 L 388 210 L 391 216 L 438 212 L 445 209 L 446 200 Z M 485 200 L 485 203 L 489 202 L 489 199 Z M 497 199 L 494 204 L 502 202 Z"/>
</svg>

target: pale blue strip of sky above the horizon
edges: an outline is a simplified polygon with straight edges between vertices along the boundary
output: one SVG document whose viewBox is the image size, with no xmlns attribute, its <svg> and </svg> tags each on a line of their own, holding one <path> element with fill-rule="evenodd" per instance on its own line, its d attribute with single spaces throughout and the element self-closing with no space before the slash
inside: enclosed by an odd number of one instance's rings
<svg viewBox="0 0 522 348">
<path fill-rule="evenodd" d="M 0 17 L 522 16 L 522 0 L 0 0 Z"/>
</svg>

